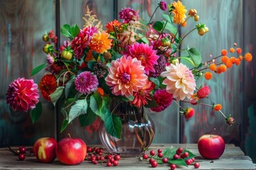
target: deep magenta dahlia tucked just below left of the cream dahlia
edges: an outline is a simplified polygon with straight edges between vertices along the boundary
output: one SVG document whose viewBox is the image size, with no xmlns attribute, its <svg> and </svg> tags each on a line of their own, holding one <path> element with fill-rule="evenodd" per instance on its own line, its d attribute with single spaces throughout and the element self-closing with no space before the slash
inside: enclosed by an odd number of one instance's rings
<svg viewBox="0 0 256 170">
<path fill-rule="evenodd" d="M 171 105 L 171 102 L 173 101 L 173 95 L 169 94 L 166 89 L 159 89 L 155 91 L 154 100 L 159 106 L 156 106 L 154 108 L 150 108 L 151 111 L 160 112 L 164 111 L 164 109 L 168 108 L 168 106 Z"/>
</svg>

